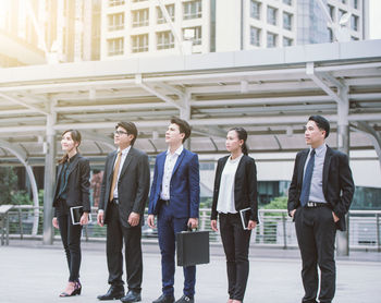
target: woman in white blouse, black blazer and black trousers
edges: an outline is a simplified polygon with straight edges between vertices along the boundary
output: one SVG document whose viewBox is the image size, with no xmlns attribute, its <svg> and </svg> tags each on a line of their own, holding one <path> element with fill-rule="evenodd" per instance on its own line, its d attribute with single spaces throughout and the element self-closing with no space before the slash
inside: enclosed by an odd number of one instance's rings
<svg viewBox="0 0 381 303">
<path fill-rule="evenodd" d="M 249 271 L 248 249 L 251 230 L 258 222 L 257 169 L 253 158 L 247 156 L 247 133 L 243 128 L 233 128 L 226 135 L 226 149 L 230 152 L 218 160 L 211 228 L 218 231 L 217 218 L 226 255 L 229 282 L 228 303 L 242 303 Z M 239 210 L 249 208 L 246 229 Z"/>
</svg>

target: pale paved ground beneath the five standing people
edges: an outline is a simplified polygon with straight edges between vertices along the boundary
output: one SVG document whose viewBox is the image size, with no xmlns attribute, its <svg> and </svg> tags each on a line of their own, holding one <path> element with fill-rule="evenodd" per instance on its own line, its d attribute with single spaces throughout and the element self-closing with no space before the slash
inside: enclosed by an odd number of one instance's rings
<svg viewBox="0 0 381 303">
<path fill-rule="evenodd" d="M 336 303 L 381 302 L 381 253 L 354 252 L 340 258 Z M 176 268 L 175 296 L 182 294 L 182 270 Z M 297 250 L 250 250 L 250 276 L 245 303 L 298 303 L 303 295 Z M 160 254 L 157 244 L 144 244 L 143 303 L 160 295 Z M 0 302 L 50 303 L 98 302 L 108 290 L 105 243 L 83 243 L 83 293 L 60 299 L 67 279 L 61 244 L 45 246 L 38 241 L 11 240 L 0 246 Z M 197 303 L 226 302 L 226 276 L 221 246 L 211 247 L 209 265 L 197 267 Z"/>
</svg>

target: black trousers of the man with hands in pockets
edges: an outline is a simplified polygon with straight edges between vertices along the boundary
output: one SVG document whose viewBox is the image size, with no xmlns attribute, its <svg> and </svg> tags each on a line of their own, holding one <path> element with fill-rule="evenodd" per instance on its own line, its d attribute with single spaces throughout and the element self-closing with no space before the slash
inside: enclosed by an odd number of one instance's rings
<svg viewBox="0 0 381 303">
<path fill-rule="evenodd" d="M 295 213 L 295 228 L 303 263 L 302 279 L 305 296 L 302 302 L 316 302 L 319 266 L 321 272 L 319 301 L 330 303 L 334 296 L 336 280 L 334 262 L 336 227 L 332 210 L 327 206 L 299 207 Z"/>
</svg>

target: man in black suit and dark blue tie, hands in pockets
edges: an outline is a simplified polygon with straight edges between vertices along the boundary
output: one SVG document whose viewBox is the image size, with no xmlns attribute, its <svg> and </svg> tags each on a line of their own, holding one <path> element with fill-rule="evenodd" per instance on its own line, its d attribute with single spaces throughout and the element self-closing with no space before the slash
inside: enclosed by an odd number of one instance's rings
<svg viewBox="0 0 381 303">
<path fill-rule="evenodd" d="M 344 231 L 355 185 L 348 157 L 325 144 L 330 123 L 321 116 L 308 119 L 305 140 L 310 148 L 296 155 L 288 190 L 288 214 L 302 255 L 302 302 L 316 303 L 321 271 L 319 302 L 332 302 L 335 292 L 334 242 L 336 229 Z"/>
</svg>

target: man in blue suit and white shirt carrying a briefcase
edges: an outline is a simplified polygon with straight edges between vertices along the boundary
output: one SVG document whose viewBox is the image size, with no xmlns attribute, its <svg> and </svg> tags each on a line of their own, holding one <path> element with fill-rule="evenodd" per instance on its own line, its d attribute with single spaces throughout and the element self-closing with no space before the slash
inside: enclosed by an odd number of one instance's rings
<svg viewBox="0 0 381 303">
<path fill-rule="evenodd" d="M 190 126 L 186 121 L 172 119 L 165 132 L 169 148 L 156 158 L 147 222 L 155 228 L 155 216 L 158 216 L 162 294 L 153 303 L 174 302 L 175 234 L 187 226 L 198 226 L 198 157 L 183 147 L 189 135 Z M 196 266 L 184 267 L 184 295 L 176 303 L 194 302 L 195 282 Z"/>
</svg>

